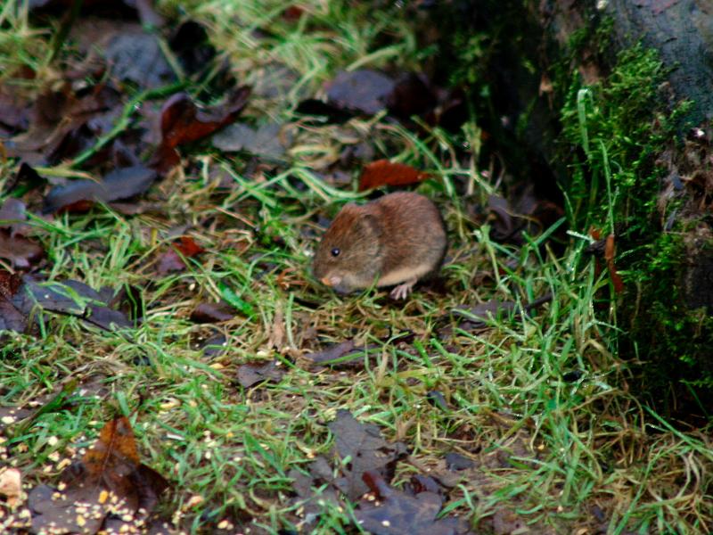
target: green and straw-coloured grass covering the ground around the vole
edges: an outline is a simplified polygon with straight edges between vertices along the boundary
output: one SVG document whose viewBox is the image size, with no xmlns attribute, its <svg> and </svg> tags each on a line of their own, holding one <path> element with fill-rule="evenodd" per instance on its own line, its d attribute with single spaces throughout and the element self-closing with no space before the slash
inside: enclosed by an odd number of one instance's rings
<svg viewBox="0 0 713 535">
<path fill-rule="evenodd" d="M 413 29 L 397 13 L 375 10 L 373 19 L 355 4 L 304 4 L 309 15 L 295 24 L 279 17 L 283 4 L 276 2 L 275 9 L 244 1 L 161 3 L 168 12 L 182 5 L 187 16 L 205 21 L 239 80 L 258 83 L 266 65 L 294 71 L 286 94 L 251 102 L 246 115 L 258 119 L 290 119 L 301 92 L 316 91 L 336 70 L 422 60 Z M 10 20 L 4 33 L 25 35 L 20 22 Z M 255 28 L 269 29 L 270 37 L 254 37 Z M 43 49 L 41 41 L 23 43 Z M 194 154 L 199 172 L 178 173 L 148 194 L 165 200 L 165 215 L 125 218 L 98 207 L 33 222 L 51 279 L 137 286 L 145 313 L 142 325 L 123 333 L 74 317 L 45 317 L 41 337 L 12 335 L 6 342 L 2 405 L 22 406 L 71 379 L 103 389 L 98 398 L 93 390 L 77 391 L 5 443 L 24 481 L 56 481 L 56 454 L 87 447 L 119 412 L 131 415 L 143 462 L 171 482 L 161 510 L 177 526 L 213 532 L 230 519 L 268 532 L 296 529 L 299 504 L 291 502 L 287 473 L 329 451 L 325 424 L 348 408 L 412 450 L 414 464 L 399 463 L 397 484 L 422 472 L 419 466 L 444 470 L 449 451 L 475 460 L 477 470 L 458 481 L 446 510 L 466 516 L 478 531 L 488 532 L 493 517 L 507 512 L 534 532 L 709 531 L 710 436 L 676 430 L 629 390 L 627 363 L 617 356 L 615 310 L 606 299 L 608 278 L 596 275 L 584 252 L 586 236 L 577 234 L 586 228 L 573 229 L 559 256 L 543 238 L 520 249 L 494 243 L 488 226 L 477 226 L 466 209 L 495 186 L 472 163 L 462 166 L 453 157 L 464 136 L 477 146 L 471 123 L 467 136 L 436 130 L 425 138 L 381 118 L 291 128 L 290 164 L 274 175 L 245 176 L 241 157 Z M 318 233 L 313 216 L 331 215 L 359 197 L 317 172 L 346 145 L 365 140 L 377 147 L 377 157 L 433 172 L 419 191 L 438 202 L 447 220 L 446 293 L 421 286 L 402 304 L 384 292 L 340 298 L 310 280 Z M 13 169 L 12 162 L 2 165 L 0 185 Z M 229 193 L 217 191 L 219 169 L 234 179 Z M 475 193 L 463 197 L 456 193 L 461 189 Z M 188 234 L 206 252 L 184 273 L 157 276 L 168 230 L 180 225 L 191 226 Z M 193 324 L 193 308 L 217 300 L 225 288 L 248 303 L 243 313 L 217 327 Z M 552 303 L 531 316 L 503 317 L 477 333 L 438 335 L 444 313 L 458 305 L 525 302 L 545 292 L 553 293 Z M 281 330 L 275 348 L 270 337 Z M 195 342 L 216 332 L 225 335 L 227 350 L 207 358 Z M 406 332 L 415 333 L 413 344 L 381 342 Z M 381 347 L 362 371 L 313 369 L 303 357 L 352 337 Z M 273 358 L 287 370 L 281 383 L 247 390 L 236 383 L 242 363 Z M 581 375 L 567 382 L 563 376 L 571 371 Z M 434 390 L 444 394 L 446 410 L 427 401 Z M 325 502 L 314 532 L 355 529 L 349 508 Z"/>
</svg>

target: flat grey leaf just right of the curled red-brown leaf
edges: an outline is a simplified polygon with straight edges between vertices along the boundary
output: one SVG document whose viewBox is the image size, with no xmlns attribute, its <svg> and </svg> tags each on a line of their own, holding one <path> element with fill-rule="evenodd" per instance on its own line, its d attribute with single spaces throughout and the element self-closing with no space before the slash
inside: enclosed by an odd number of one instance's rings
<svg viewBox="0 0 713 535">
<path fill-rule="evenodd" d="M 271 161 L 282 161 L 291 137 L 282 134 L 282 125 L 267 123 L 252 128 L 235 123 L 213 136 L 213 146 L 225 152 L 245 151 Z"/>
</svg>

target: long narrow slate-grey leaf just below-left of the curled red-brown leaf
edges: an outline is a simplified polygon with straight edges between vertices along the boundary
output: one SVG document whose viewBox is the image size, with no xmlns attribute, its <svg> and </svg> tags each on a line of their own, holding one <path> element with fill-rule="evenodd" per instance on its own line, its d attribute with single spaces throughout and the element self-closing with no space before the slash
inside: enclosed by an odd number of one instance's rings
<svg viewBox="0 0 713 535">
<path fill-rule="evenodd" d="M 52 188 L 45 198 L 45 213 L 57 210 L 86 211 L 94 202 L 120 201 L 144 193 L 156 180 L 153 169 L 137 165 L 115 169 L 99 182 L 73 180 Z"/>
</svg>

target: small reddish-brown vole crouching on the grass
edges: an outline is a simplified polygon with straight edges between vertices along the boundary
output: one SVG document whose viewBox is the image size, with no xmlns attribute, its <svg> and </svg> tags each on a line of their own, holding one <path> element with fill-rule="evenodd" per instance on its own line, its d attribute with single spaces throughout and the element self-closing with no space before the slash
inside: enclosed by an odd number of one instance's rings
<svg viewBox="0 0 713 535">
<path fill-rule="evenodd" d="M 345 205 L 317 247 L 315 276 L 337 292 L 397 286 L 406 299 L 416 281 L 438 271 L 446 227 L 433 202 L 418 193 L 389 193 L 362 206 Z"/>
</svg>

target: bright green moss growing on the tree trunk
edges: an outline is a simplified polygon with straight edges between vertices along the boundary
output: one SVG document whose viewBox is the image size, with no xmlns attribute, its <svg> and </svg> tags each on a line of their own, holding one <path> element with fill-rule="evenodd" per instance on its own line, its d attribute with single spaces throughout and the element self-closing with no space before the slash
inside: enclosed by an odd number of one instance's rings
<svg viewBox="0 0 713 535">
<path fill-rule="evenodd" d="M 683 103 L 667 113 L 660 95 L 666 75 L 656 51 L 636 45 L 619 53 L 602 81 L 583 86 L 575 77 L 561 111 L 563 137 L 578 148 L 570 152 L 572 172 L 564 185 L 570 221 L 617 236 L 616 265 L 627 283 L 618 309 L 627 333 L 619 348 L 649 363 L 641 368 L 643 383 L 657 398 L 672 378 L 713 387 L 704 364 L 713 321 L 684 304 L 686 229 L 680 222 L 660 227 L 681 201 L 669 202 L 667 214 L 657 209 L 662 171 L 654 161 L 675 144 L 679 118 L 689 107 Z"/>
</svg>

